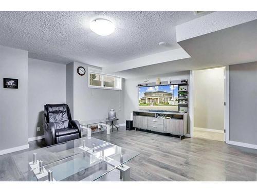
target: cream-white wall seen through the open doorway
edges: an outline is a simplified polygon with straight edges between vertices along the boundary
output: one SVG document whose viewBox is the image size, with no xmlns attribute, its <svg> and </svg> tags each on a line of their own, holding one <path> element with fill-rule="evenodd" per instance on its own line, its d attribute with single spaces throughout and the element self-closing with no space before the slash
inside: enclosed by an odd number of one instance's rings
<svg viewBox="0 0 257 192">
<path fill-rule="evenodd" d="M 194 127 L 224 130 L 224 68 L 194 71 Z"/>
</svg>

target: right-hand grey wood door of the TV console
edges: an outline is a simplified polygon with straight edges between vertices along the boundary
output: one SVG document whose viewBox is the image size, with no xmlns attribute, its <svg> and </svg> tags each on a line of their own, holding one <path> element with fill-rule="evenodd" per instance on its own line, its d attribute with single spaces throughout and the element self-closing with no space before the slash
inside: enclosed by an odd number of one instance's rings
<svg viewBox="0 0 257 192">
<path fill-rule="evenodd" d="M 183 120 L 180 119 L 164 119 L 163 131 L 174 135 L 184 135 Z"/>
</svg>

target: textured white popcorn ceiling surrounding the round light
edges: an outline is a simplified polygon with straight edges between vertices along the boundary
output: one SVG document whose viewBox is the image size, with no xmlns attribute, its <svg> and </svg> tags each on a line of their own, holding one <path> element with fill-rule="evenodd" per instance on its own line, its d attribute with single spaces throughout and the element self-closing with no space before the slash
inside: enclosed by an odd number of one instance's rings
<svg viewBox="0 0 257 192">
<path fill-rule="evenodd" d="M 29 57 L 106 67 L 177 49 L 175 26 L 201 15 L 193 11 L 8 11 L 0 12 L 0 45 L 29 51 Z M 117 27 L 109 36 L 89 29 L 95 18 Z M 171 46 L 160 47 L 166 41 Z"/>
</svg>

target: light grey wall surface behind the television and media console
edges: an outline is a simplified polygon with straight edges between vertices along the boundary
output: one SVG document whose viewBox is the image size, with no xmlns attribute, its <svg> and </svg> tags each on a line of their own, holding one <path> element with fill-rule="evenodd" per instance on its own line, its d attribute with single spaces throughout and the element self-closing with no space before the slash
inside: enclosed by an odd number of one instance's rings
<svg viewBox="0 0 257 192">
<path fill-rule="evenodd" d="M 134 110 L 138 110 L 138 88 L 136 87 L 138 83 L 143 83 L 145 80 L 149 80 L 150 82 L 155 82 L 157 77 L 161 79 L 161 81 L 168 81 L 170 77 L 172 80 L 179 79 L 188 79 L 190 86 L 190 71 L 183 71 L 178 73 L 167 73 L 167 74 L 159 74 L 153 76 L 141 76 L 138 78 L 125 79 L 124 81 L 124 115 L 125 120 L 130 119 L 130 113 Z M 190 93 L 189 93 L 190 94 Z M 190 101 L 189 101 L 190 102 Z M 188 119 L 188 133 L 190 133 L 190 114 Z"/>
</svg>

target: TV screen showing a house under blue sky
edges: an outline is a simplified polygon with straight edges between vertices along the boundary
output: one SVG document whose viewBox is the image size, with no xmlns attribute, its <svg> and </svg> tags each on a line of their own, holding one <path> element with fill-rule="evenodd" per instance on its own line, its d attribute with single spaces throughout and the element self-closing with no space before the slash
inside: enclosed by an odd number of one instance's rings
<svg viewBox="0 0 257 192">
<path fill-rule="evenodd" d="M 139 88 L 139 110 L 178 111 L 178 85 Z"/>
</svg>

